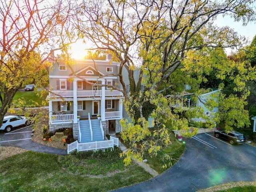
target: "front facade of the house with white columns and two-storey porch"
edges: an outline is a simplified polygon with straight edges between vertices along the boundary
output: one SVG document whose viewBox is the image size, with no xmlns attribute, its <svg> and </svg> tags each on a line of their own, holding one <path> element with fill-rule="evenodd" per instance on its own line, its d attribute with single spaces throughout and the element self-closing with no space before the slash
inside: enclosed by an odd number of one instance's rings
<svg viewBox="0 0 256 192">
<path fill-rule="evenodd" d="M 74 62 L 74 73 L 90 83 L 77 78 L 72 70 L 61 62 L 53 62 L 52 65 L 53 69 L 49 71 L 50 93 L 47 97 L 50 131 L 73 128 L 74 138 L 78 140 L 79 137 L 81 140 L 81 134 L 87 134 L 82 133 L 82 126 L 89 128 L 89 131 L 84 132 L 91 132 L 88 136 L 91 140 L 95 135 L 93 126 L 96 124 L 100 127 L 99 132 L 103 138 L 109 132 L 121 132 L 122 92 L 112 90 L 108 86 L 96 85 L 120 85 L 118 77 L 112 75 L 118 74 L 119 64 L 111 62 L 110 55 L 106 56 L 105 61 Z M 100 115 L 100 119 L 97 115 Z"/>
</svg>

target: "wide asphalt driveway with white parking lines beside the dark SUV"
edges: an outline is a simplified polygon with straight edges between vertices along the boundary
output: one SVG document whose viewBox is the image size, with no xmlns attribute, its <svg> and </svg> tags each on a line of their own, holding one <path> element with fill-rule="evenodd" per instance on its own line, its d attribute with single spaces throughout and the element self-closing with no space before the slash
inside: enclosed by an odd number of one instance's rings
<svg viewBox="0 0 256 192">
<path fill-rule="evenodd" d="M 231 146 L 213 133 L 186 139 L 181 159 L 163 174 L 117 192 L 194 192 L 218 184 L 256 181 L 256 148 Z"/>
</svg>

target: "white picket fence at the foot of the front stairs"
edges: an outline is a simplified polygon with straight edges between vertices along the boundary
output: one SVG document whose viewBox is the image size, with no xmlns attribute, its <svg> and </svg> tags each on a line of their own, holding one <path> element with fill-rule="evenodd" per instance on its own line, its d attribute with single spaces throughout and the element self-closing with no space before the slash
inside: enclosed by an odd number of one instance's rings
<svg viewBox="0 0 256 192">
<path fill-rule="evenodd" d="M 112 136 L 110 136 L 110 140 L 105 141 L 95 141 L 89 143 L 78 143 L 78 141 L 75 141 L 71 144 L 68 144 L 67 152 L 69 154 L 74 150 L 77 150 L 79 152 L 106 148 L 112 148 L 114 150 L 114 145 L 118 146 L 118 138 L 114 138 Z"/>
</svg>

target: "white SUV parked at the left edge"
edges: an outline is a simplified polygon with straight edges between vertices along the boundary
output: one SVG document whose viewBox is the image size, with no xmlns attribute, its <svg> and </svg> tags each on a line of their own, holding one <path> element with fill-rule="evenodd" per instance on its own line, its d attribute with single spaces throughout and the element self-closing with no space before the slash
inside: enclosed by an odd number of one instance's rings
<svg viewBox="0 0 256 192">
<path fill-rule="evenodd" d="M 30 125 L 30 120 L 26 119 L 24 116 L 14 116 L 8 115 L 4 117 L 3 124 L 0 130 L 5 130 L 6 132 L 10 132 L 12 128 L 18 127 L 21 125 Z"/>
</svg>

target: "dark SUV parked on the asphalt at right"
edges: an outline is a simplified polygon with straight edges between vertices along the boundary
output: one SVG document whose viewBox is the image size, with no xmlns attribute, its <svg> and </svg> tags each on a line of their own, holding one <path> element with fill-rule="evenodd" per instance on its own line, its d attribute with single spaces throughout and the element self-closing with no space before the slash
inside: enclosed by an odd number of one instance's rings
<svg viewBox="0 0 256 192">
<path fill-rule="evenodd" d="M 226 132 L 225 130 L 215 130 L 214 135 L 216 138 L 223 138 L 227 140 L 232 145 L 245 143 L 244 135 L 236 131 Z"/>
</svg>

